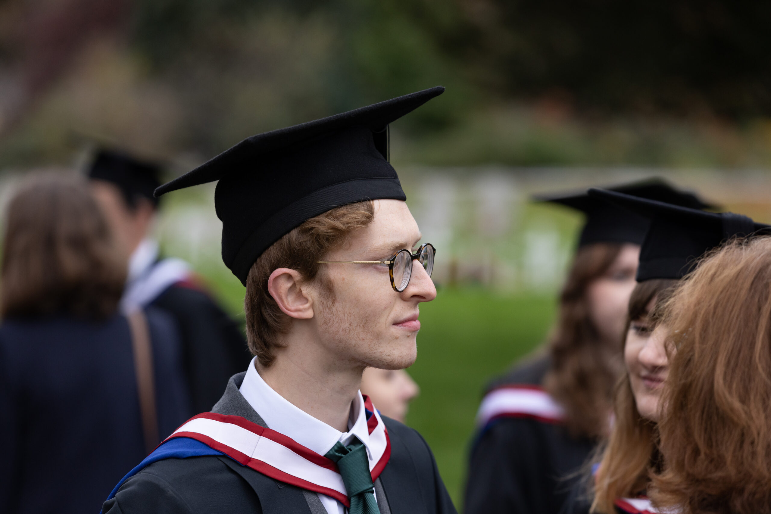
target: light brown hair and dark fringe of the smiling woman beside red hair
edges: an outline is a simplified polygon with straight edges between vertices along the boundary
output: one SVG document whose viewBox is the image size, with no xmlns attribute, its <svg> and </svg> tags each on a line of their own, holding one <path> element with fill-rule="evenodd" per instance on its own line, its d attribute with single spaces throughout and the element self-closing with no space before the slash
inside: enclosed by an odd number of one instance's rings
<svg viewBox="0 0 771 514">
<path fill-rule="evenodd" d="M 629 298 L 629 317 L 625 338 L 632 321 L 652 317 L 648 304 L 665 301 L 677 281 L 655 279 L 635 286 Z M 654 311 L 658 311 L 654 307 Z M 594 502 L 591 512 L 613 514 L 618 498 L 637 496 L 645 491 L 651 469 L 658 469 L 660 458 L 656 446 L 658 432 L 655 423 L 643 418 L 637 410 L 628 373 L 615 388 L 613 412 L 615 422 L 608 441 L 601 447 L 597 474 L 594 476 Z"/>
</svg>

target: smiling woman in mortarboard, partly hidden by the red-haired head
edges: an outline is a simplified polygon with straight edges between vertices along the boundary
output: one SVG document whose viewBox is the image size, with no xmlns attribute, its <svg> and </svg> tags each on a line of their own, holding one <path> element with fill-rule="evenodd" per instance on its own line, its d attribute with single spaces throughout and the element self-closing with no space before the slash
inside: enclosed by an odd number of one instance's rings
<svg viewBox="0 0 771 514">
<path fill-rule="evenodd" d="M 643 217 L 649 227 L 640 250 L 638 284 L 629 301 L 624 375 L 614 395 L 608 444 L 592 466 L 594 476 L 574 484 L 562 512 L 588 514 L 592 502 L 593 512 L 656 512 L 646 489 L 649 470 L 662 465 L 657 424 L 669 358 L 661 338 L 653 335 L 651 313 L 695 270 L 703 254 L 734 237 L 769 233 L 771 227 L 741 214 L 704 212 L 616 191 L 588 193 Z"/>
</svg>

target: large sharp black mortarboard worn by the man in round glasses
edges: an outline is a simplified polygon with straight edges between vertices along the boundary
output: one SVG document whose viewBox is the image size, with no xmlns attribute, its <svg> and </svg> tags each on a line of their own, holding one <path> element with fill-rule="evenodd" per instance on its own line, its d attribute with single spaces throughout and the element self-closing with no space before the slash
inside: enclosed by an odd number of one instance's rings
<svg viewBox="0 0 771 514">
<path fill-rule="evenodd" d="M 222 260 L 246 284 L 262 252 L 305 220 L 346 203 L 406 200 L 388 161 L 388 125 L 443 91 L 425 89 L 249 137 L 156 195 L 219 180 Z"/>
</svg>

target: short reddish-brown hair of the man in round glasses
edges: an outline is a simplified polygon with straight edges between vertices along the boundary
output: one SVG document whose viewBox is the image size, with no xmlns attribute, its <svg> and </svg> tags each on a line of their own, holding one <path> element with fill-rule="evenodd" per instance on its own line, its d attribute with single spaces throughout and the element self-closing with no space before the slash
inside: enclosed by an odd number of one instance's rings
<svg viewBox="0 0 771 514">
<path fill-rule="evenodd" d="M 299 271 L 305 281 L 314 280 L 318 261 L 330 250 L 345 245 L 355 230 L 368 226 L 374 219 L 372 200 L 335 207 L 281 237 L 252 264 L 246 279 L 244 311 L 249 350 L 257 355 L 261 366 L 268 368 L 273 364 L 274 349 L 281 344 L 279 336 L 288 330 L 291 321 L 268 292 L 271 273 L 288 267 Z M 319 278 L 331 295 L 331 285 L 324 284 L 322 276 Z"/>
</svg>

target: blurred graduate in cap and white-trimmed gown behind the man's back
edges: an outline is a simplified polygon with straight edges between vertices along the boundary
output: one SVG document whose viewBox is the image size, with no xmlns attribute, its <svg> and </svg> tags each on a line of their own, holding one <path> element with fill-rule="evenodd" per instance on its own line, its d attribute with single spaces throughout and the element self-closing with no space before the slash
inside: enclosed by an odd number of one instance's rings
<svg viewBox="0 0 771 514">
<path fill-rule="evenodd" d="M 122 310 L 157 307 L 174 318 L 192 412 L 209 410 L 250 355 L 241 328 L 200 286 L 190 266 L 181 259 L 160 257 L 158 243 L 150 237 L 158 212 L 153 191 L 160 186 L 160 166 L 100 149 L 88 176 L 129 260 Z"/>
</svg>

